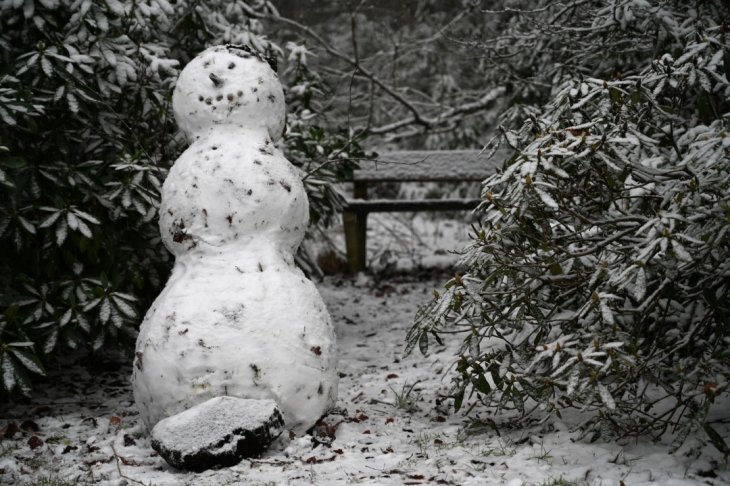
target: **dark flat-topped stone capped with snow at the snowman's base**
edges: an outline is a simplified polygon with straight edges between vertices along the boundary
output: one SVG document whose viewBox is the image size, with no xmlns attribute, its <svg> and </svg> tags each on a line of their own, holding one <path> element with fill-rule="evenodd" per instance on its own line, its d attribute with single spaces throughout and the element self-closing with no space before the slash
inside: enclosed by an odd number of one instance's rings
<svg viewBox="0 0 730 486">
<path fill-rule="evenodd" d="M 273 400 L 216 397 L 158 422 L 152 448 L 173 467 L 203 471 L 259 456 L 283 429 Z"/>
</svg>

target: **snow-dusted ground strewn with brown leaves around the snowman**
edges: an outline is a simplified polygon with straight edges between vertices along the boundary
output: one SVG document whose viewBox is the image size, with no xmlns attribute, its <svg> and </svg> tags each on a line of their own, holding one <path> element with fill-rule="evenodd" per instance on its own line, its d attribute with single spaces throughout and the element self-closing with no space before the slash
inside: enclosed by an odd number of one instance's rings
<svg viewBox="0 0 730 486">
<path fill-rule="evenodd" d="M 389 258 L 400 267 L 453 263 L 445 250 L 465 238 L 441 231 L 451 228 L 444 221 L 418 217 L 378 224 L 378 218 L 371 221 L 371 255 L 390 248 Z M 420 233 L 398 237 L 400 243 L 380 233 L 406 235 L 409 225 Z M 31 402 L 0 408 L 0 436 L 6 436 L 0 442 L 0 483 L 730 484 L 727 460 L 696 438 L 670 455 L 666 443 L 591 444 L 555 420 L 519 429 L 485 411 L 450 414 L 444 373 L 457 339 L 425 358 L 403 355 L 414 312 L 445 278 L 439 271 L 414 271 L 385 279 L 334 276 L 318 284 L 339 340 L 340 410 L 326 417 L 316 438 L 282 437 L 264 457 L 228 469 L 176 471 L 151 449 L 137 415 L 131 359 L 121 370 L 109 363 L 93 374 L 73 366 L 53 371 Z M 480 428 L 474 421 L 479 417 L 501 425 L 497 431 Z M 10 434 L 10 424 L 20 430 Z M 727 434 L 727 424 L 720 427 Z"/>
</svg>

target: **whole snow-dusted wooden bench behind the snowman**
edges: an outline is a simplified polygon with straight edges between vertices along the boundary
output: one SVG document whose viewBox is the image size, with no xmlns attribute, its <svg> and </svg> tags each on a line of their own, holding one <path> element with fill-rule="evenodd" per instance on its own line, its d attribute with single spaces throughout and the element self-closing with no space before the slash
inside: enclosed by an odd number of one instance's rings
<svg viewBox="0 0 730 486">
<path fill-rule="evenodd" d="M 367 217 L 374 212 L 460 211 L 477 207 L 481 199 L 368 199 L 368 185 L 381 182 L 481 182 L 495 173 L 503 157 L 478 150 L 388 152 L 363 161 L 353 173 L 353 199 L 347 199 L 342 219 L 347 264 L 351 272 L 367 266 Z"/>
</svg>

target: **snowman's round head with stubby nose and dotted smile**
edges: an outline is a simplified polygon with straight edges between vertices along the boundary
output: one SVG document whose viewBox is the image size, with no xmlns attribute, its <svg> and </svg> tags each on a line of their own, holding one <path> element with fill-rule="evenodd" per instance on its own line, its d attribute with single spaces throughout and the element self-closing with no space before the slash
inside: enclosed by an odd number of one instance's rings
<svg viewBox="0 0 730 486">
<path fill-rule="evenodd" d="M 265 60 L 243 47 L 211 47 L 190 61 L 175 85 L 172 107 L 191 141 L 221 125 L 266 130 L 274 141 L 284 130 L 279 78 Z"/>
</svg>

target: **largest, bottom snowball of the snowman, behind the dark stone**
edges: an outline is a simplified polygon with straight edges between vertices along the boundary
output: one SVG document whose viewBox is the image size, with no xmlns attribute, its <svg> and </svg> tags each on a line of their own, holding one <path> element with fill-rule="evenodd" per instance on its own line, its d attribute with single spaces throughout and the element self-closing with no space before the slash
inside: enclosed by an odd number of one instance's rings
<svg viewBox="0 0 730 486">
<path fill-rule="evenodd" d="M 147 313 L 133 390 L 148 429 L 234 396 L 274 400 L 303 434 L 336 402 L 335 334 L 314 284 L 284 266 L 241 273 L 240 260 L 178 261 Z"/>
</svg>

